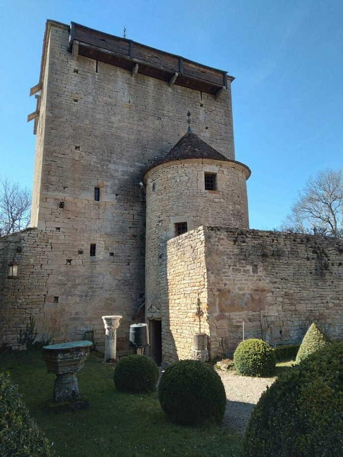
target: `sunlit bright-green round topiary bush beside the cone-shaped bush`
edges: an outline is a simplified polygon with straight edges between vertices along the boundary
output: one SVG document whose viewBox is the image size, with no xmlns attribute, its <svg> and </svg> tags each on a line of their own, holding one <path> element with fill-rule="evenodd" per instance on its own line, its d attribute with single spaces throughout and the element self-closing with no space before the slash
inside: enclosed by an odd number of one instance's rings
<svg viewBox="0 0 343 457">
<path fill-rule="evenodd" d="M 273 348 L 257 338 L 245 339 L 233 355 L 235 368 L 244 376 L 268 376 L 275 368 Z"/>
</svg>

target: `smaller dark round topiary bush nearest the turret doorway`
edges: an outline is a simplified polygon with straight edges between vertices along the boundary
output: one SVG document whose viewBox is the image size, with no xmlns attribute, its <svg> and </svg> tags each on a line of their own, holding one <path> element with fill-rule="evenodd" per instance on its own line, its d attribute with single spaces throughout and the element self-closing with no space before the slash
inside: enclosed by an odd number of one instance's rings
<svg viewBox="0 0 343 457">
<path fill-rule="evenodd" d="M 114 385 L 122 392 L 152 392 L 158 379 L 158 368 L 146 356 L 123 357 L 114 370 Z"/>
</svg>

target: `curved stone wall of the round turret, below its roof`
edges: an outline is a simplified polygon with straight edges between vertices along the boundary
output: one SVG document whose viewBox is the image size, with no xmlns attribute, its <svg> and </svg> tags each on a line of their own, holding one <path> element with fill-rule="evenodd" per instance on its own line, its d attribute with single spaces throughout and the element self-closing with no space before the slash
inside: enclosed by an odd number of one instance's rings
<svg viewBox="0 0 343 457">
<path fill-rule="evenodd" d="M 217 190 L 204 187 L 204 173 L 217 174 Z M 146 315 L 159 308 L 161 246 L 175 236 L 174 224 L 248 227 L 246 171 L 239 164 L 205 159 L 169 162 L 149 170 L 146 228 Z"/>
</svg>

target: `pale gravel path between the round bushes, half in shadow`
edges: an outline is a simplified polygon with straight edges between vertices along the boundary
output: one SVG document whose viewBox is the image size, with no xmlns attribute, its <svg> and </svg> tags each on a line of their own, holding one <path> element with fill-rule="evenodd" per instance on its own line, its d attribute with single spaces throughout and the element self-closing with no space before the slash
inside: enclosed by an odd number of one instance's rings
<svg viewBox="0 0 343 457">
<path fill-rule="evenodd" d="M 218 370 L 226 391 L 226 410 L 222 425 L 243 433 L 250 418 L 251 411 L 258 402 L 262 392 L 276 378 L 249 378 L 230 371 Z"/>
</svg>

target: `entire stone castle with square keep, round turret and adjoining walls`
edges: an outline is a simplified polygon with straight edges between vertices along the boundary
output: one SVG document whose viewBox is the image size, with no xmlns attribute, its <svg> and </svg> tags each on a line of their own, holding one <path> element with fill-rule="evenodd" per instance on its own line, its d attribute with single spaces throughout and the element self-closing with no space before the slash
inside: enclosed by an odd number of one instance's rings
<svg viewBox="0 0 343 457">
<path fill-rule="evenodd" d="M 103 350 L 101 316 L 121 315 L 119 356 L 131 352 L 130 324 L 146 320 L 151 357 L 189 358 L 198 299 L 210 357 L 237 345 L 243 320 L 247 336 L 266 327 L 272 344 L 299 341 L 313 320 L 342 338 L 342 240 L 248 228 L 233 79 L 47 22 L 28 116 L 31 227 L 0 238 L 0 344 L 18 349 L 32 317 L 39 337 L 58 343 L 93 331 Z"/>
</svg>

